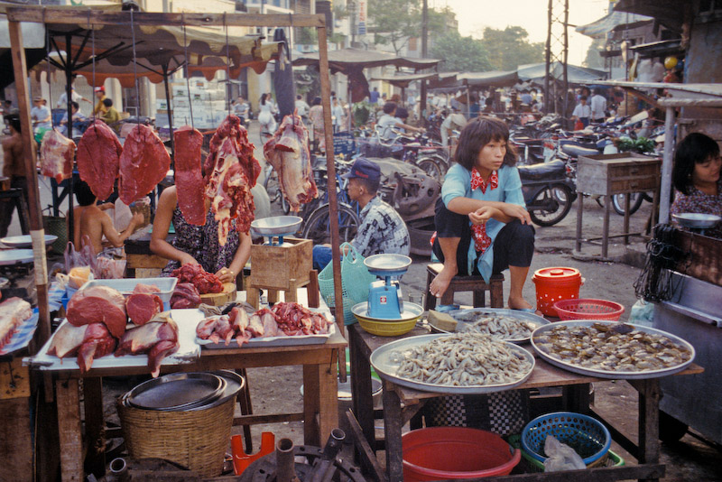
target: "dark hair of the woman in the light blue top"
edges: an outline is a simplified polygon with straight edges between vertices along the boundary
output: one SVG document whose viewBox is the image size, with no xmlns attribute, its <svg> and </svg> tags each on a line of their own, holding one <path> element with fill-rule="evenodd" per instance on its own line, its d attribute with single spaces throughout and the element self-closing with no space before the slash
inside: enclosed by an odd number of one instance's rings
<svg viewBox="0 0 722 482">
<path fill-rule="evenodd" d="M 454 160 L 471 171 L 481 149 L 494 141 L 506 143 L 504 165 L 516 165 L 516 151 L 514 145 L 509 143 L 509 128 L 503 120 L 495 117 L 480 116 L 468 121 L 458 136 L 457 153 Z"/>
</svg>

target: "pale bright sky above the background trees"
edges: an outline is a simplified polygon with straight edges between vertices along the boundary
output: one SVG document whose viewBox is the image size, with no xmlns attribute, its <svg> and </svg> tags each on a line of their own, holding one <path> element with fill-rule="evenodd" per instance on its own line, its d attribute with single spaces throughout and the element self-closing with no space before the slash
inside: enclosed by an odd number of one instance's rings
<svg viewBox="0 0 722 482">
<path fill-rule="evenodd" d="M 559 0 L 554 2 L 563 5 Z M 456 12 L 458 31 L 464 36 L 481 38 L 486 27 L 503 30 L 518 25 L 529 32 L 531 42 L 547 41 L 548 0 L 429 0 L 429 6 L 446 5 Z M 569 0 L 569 23 L 592 23 L 606 14 L 608 6 L 608 0 Z M 570 27 L 569 63 L 581 65 L 591 42 L 590 37 Z"/>
</svg>

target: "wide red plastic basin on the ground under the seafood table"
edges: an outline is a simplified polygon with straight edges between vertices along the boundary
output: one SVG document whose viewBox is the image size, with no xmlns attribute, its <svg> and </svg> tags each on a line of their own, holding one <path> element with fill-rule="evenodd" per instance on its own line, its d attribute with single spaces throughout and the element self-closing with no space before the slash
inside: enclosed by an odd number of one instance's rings
<svg viewBox="0 0 722 482">
<path fill-rule="evenodd" d="M 402 436 L 403 480 L 508 475 L 522 458 L 501 437 L 467 427 L 430 427 Z"/>
</svg>

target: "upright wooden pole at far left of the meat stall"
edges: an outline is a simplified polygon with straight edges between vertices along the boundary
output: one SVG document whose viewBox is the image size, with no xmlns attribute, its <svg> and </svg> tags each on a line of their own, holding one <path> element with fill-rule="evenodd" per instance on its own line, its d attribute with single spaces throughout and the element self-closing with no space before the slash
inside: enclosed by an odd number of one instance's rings
<svg viewBox="0 0 722 482">
<path fill-rule="evenodd" d="M 15 76 L 15 89 L 17 91 L 17 104 L 20 107 L 20 123 L 23 137 L 23 162 L 25 165 L 25 180 L 28 190 L 30 212 L 30 236 L 32 237 L 32 255 L 34 258 L 35 286 L 38 292 L 38 320 L 37 341 L 39 346 L 51 336 L 51 320 L 48 308 L 48 262 L 45 257 L 45 230 L 42 228 L 42 210 L 40 208 L 40 192 L 38 190 L 38 172 L 35 156 L 35 139 L 32 136 L 32 122 L 30 119 L 30 93 L 28 92 L 28 70 L 25 63 L 25 50 L 23 49 L 23 31 L 19 22 L 8 22 L 10 32 L 10 45 L 13 54 L 13 71 Z"/>
</svg>

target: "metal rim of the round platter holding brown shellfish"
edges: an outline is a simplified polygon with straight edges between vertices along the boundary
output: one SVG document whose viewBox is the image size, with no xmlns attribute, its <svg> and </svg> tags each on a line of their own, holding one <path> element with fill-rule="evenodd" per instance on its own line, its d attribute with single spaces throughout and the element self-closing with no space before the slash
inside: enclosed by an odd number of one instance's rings
<svg viewBox="0 0 722 482">
<path fill-rule="evenodd" d="M 561 360 L 558 357 L 553 357 L 549 353 L 545 352 L 540 348 L 537 343 L 534 342 L 535 339 L 538 339 L 540 335 L 544 334 L 547 331 L 551 331 L 552 329 L 556 329 L 561 326 L 566 326 L 569 328 L 574 327 L 590 327 L 594 325 L 595 323 L 600 323 L 604 325 L 623 325 L 623 323 L 619 323 L 617 321 L 600 321 L 600 320 L 567 320 L 567 321 L 557 321 L 555 323 L 550 323 L 549 325 L 544 325 L 542 327 L 539 327 L 538 329 L 535 329 L 532 333 L 532 347 L 536 352 L 539 354 L 540 357 L 542 357 L 545 361 L 551 363 L 551 365 L 559 366 L 560 368 L 563 368 L 565 370 L 569 370 L 569 372 L 578 373 L 579 375 L 589 375 L 589 376 L 597 376 L 599 378 L 609 378 L 613 380 L 637 380 L 637 379 L 645 379 L 645 378 L 656 378 L 659 376 L 667 376 L 667 375 L 674 375 L 685 368 L 687 366 L 690 366 L 690 364 L 694 361 L 695 357 L 695 350 L 694 347 L 690 345 L 689 342 L 686 340 L 677 337 L 675 335 L 672 335 L 671 333 L 668 333 L 666 331 L 662 331 L 661 329 L 653 329 L 649 327 L 643 327 L 640 325 L 625 325 L 627 327 L 631 327 L 637 331 L 641 331 L 643 333 L 650 333 L 654 335 L 662 335 L 663 337 L 670 338 L 671 341 L 674 343 L 680 345 L 682 348 L 686 348 L 690 351 L 690 359 L 687 361 L 684 361 L 680 363 L 679 365 L 671 366 L 668 368 L 662 368 L 662 369 L 655 369 L 655 370 L 639 370 L 639 371 L 612 371 L 612 370 L 604 370 L 599 368 L 589 368 L 587 366 L 579 366 L 577 364 L 569 363 L 568 361 Z"/>
</svg>

